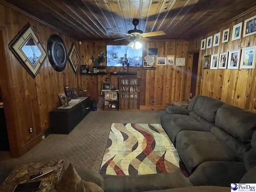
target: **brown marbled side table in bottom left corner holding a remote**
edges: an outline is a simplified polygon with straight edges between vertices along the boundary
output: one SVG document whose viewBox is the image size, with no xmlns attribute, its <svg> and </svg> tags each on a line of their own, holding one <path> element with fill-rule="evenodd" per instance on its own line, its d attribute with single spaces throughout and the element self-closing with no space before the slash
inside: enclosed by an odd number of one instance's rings
<svg viewBox="0 0 256 192">
<path fill-rule="evenodd" d="M 16 167 L 6 178 L 4 183 L 0 186 L 0 191 L 12 192 L 17 184 L 42 180 L 43 182 L 39 192 L 45 192 L 56 183 L 57 179 L 60 176 L 63 164 L 64 160 L 60 160 L 31 163 L 25 164 L 21 167 Z M 36 178 L 32 181 L 30 180 L 31 175 L 36 174 L 42 170 L 46 170 L 48 168 L 53 168 L 54 171 L 42 177 Z"/>
</svg>

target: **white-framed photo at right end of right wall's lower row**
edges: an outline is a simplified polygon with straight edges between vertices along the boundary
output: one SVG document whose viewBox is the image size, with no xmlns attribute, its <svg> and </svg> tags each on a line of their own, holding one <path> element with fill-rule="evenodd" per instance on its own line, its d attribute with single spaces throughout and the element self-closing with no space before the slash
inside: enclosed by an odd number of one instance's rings
<svg viewBox="0 0 256 192">
<path fill-rule="evenodd" d="M 246 47 L 242 49 L 240 69 L 255 68 L 256 46 Z"/>
</svg>

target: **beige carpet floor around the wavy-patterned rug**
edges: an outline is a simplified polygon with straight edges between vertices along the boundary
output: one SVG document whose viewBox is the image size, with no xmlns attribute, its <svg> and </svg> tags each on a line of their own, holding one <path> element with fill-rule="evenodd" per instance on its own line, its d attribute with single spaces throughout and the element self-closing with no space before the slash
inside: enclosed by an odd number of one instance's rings
<svg viewBox="0 0 256 192">
<path fill-rule="evenodd" d="M 112 123 L 160 124 L 161 114 L 162 111 L 154 110 L 90 112 L 70 134 L 51 134 L 20 158 L 10 158 L 6 152 L 0 152 L 5 159 L 0 160 L 0 184 L 6 177 L 6 168 L 31 162 L 64 159 L 65 167 L 72 162 L 98 172 Z"/>
</svg>

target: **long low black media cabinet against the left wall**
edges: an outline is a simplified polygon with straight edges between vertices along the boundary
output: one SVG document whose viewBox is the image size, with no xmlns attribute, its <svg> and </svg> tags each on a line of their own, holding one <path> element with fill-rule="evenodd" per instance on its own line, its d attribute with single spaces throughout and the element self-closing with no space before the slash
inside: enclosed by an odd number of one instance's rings
<svg viewBox="0 0 256 192">
<path fill-rule="evenodd" d="M 50 111 L 51 132 L 69 134 L 90 112 L 91 100 L 87 97 L 70 109 L 54 109 Z"/>
</svg>

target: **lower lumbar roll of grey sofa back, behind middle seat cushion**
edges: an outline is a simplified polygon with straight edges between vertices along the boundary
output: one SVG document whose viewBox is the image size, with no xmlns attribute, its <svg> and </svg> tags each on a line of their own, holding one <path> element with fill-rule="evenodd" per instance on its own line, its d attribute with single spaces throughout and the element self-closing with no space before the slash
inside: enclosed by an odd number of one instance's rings
<svg viewBox="0 0 256 192">
<path fill-rule="evenodd" d="M 219 128 L 218 126 L 214 126 L 210 131 L 216 138 L 226 143 L 226 145 L 231 148 L 237 155 L 244 157 L 244 154 L 250 150 L 250 143 L 244 144 L 232 137 L 230 134 Z"/>
</svg>

